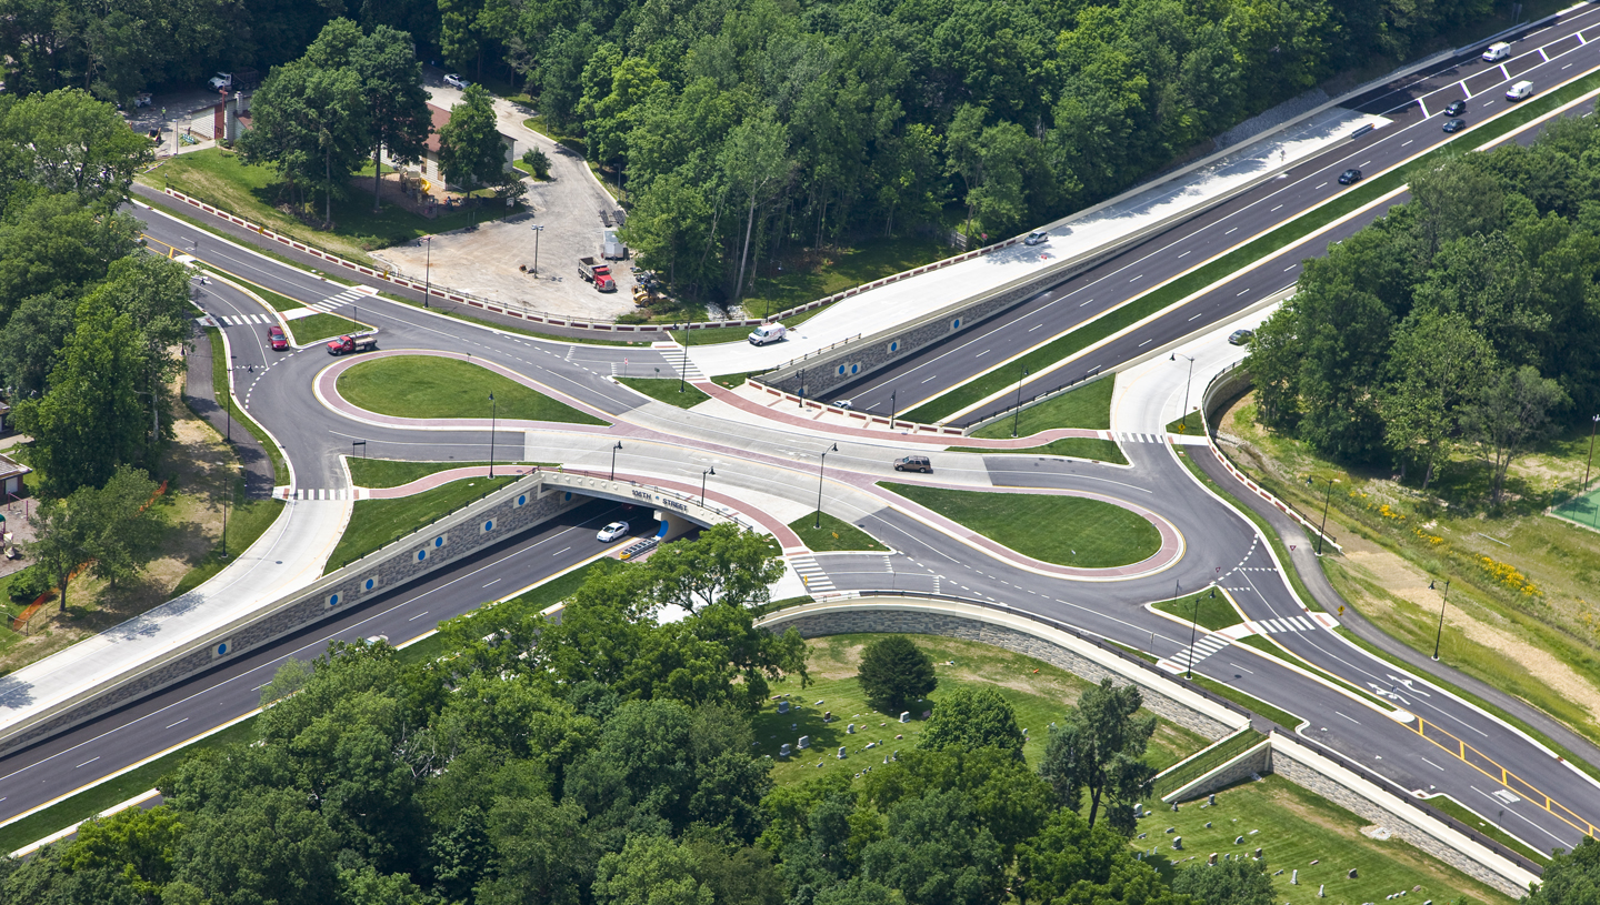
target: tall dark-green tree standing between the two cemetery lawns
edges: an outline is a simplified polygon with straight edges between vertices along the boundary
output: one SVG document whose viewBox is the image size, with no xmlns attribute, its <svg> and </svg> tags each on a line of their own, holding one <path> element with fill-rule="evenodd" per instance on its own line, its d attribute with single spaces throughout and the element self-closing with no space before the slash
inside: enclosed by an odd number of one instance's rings
<svg viewBox="0 0 1600 905">
<path fill-rule="evenodd" d="M 1090 793 L 1088 823 L 1094 825 L 1101 803 L 1107 823 L 1133 835 L 1131 804 L 1150 791 L 1155 769 L 1142 759 L 1155 734 L 1155 716 L 1139 716 L 1144 699 L 1138 686 L 1117 688 L 1109 678 L 1083 692 L 1059 728 L 1051 728 L 1040 775 L 1056 791 L 1056 804 L 1077 811 Z"/>
</svg>

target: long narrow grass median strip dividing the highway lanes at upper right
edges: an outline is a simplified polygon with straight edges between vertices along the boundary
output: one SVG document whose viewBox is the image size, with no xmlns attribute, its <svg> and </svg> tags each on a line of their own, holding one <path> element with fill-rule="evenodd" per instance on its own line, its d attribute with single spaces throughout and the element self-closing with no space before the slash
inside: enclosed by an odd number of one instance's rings
<svg viewBox="0 0 1600 905">
<path fill-rule="evenodd" d="M 1270 254 L 1304 240 L 1318 229 L 1360 209 L 1365 205 L 1370 205 L 1382 195 L 1403 187 L 1416 168 L 1437 166 L 1438 161 L 1446 157 L 1466 153 L 1464 149 L 1478 147 L 1488 141 L 1501 138 L 1512 130 L 1560 107 L 1562 104 L 1594 91 L 1595 88 L 1600 88 L 1600 72 L 1592 72 L 1563 85 L 1562 88 L 1557 88 L 1555 91 L 1525 101 L 1512 112 L 1504 114 L 1496 120 L 1490 120 L 1469 133 L 1462 133 L 1434 150 L 1402 163 L 1395 169 L 1363 181 L 1355 189 L 1338 195 L 1326 205 L 1306 211 L 1304 214 L 1278 225 L 1272 232 L 1267 232 L 1266 235 L 1261 235 L 1243 246 L 1210 261 L 1208 264 L 1195 267 L 1165 286 L 1158 286 L 1134 297 L 1122 307 L 1099 315 L 1090 323 L 1059 336 L 1045 345 L 1040 345 L 1021 358 L 1006 361 L 1003 371 L 986 371 L 976 379 L 917 406 L 915 409 L 906 413 L 906 417 L 909 421 L 920 421 L 925 424 L 942 422 L 952 414 L 965 411 L 966 408 L 981 403 L 1006 387 L 1014 385 L 1018 369 L 1021 368 L 1027 368 L 1030 373 L 1040 374 L 1040 379 L 1043 379 L 1045 371 L 1066 358 L 1181 302 L 1206 286 L 1227 278 L 1230 273 L 1243 270 L 1256 261 L 1269 257 Z"/>
</svg>

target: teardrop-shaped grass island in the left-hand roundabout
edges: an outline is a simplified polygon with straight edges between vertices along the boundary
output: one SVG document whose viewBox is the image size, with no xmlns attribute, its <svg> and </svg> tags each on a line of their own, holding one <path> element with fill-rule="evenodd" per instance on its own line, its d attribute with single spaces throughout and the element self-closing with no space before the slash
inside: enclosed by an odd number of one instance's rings
<svg viewBox="0 0 1600 905">
<path fill-rule="evenodd" d="M 368 411 L 400 417 L 483 417 L 493 393 L 494 411 L 507 421 L 606 424 L 488 368 L 432 355 L 362 361 L 339 374 L 339 392 Z"/>
</svg>

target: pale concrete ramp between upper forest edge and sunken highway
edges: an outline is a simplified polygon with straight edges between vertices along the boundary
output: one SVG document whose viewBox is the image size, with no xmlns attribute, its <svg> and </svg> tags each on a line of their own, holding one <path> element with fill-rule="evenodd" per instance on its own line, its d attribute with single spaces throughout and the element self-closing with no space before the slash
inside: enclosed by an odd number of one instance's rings
<svg viewBox="0 0 1600 905">
<path fill-rule="evenodd" d="M 1347 141 L 1349 134 L 1363 125 L 1387 122 L 1382 117 L 1331 107 L 1187 176 L 1160 182 L 1078 219 L 1058 221 L 1051 224 L 1050 241 L 1045 245 L 1014 245 L 869 289 L 835 302 L 814 318 L 790 328 L 789 337 L 776 347 L 757 347 L 747 342 L 696 345 L 690 350 L 690 358 L 702 374 L 733 374 L 773 368 L 856 334 L 870 336 L 1042 270 L 1056 261 L 1114 245 L 1162 219 L 1197 211 L 1213 198 L 1253 179 Z"/>
</svg>

